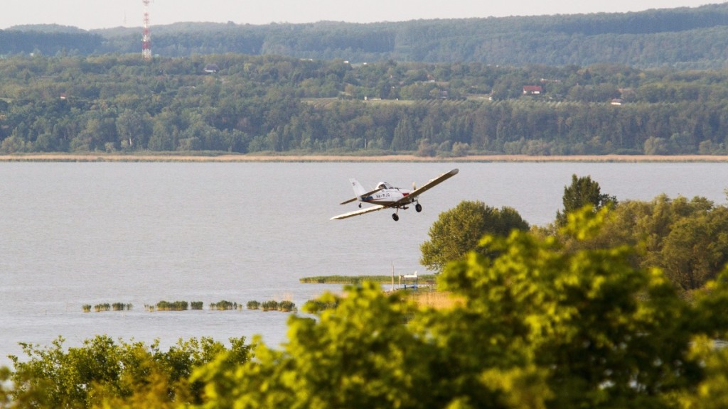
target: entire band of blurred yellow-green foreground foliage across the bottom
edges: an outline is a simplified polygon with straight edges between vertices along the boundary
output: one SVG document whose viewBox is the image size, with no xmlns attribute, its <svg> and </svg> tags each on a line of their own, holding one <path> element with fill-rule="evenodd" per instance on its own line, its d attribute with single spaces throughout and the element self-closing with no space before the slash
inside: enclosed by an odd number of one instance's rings
<svg viewBox="0 0 728 409">
<path fill-rule="evenodd" d="M 569 213 L 559 234 L 588 242 L 608 213 Z M 114 389 L 117 384 L 102 370 L 116 368 L 114 355 L 79 360 L 100 370 L 78 378 L 71 369 L 85 367 L 69 365 L 76 360 L 66 361 L 60 348 L 31 352 L 28 366 L 15 364 L 25 377 L 13 377 L 20 383 L 11 396 L 22 403 L 26 392 L 34 392 L 41 408 L 117 402 L 194 408 L 712 408 L 728 400 L 728 352 L 713 347 L 713 340 L 728 335 L 728 270 L 688 302 L 659 269 L 633 266 L 628 246 L 560 243 L 518 230 L 484 237 L 480 247 L 495 257 L 470 252 L 438 277 L 462 301 L 447 309 L 419 309 L 375 283 L 347 287 L 341 297 L 325 294 L 319 303 L 306 304 L 316 317 L 290 317 L 289 341 L 281 349 L 256 342 L 254 359 L 247 347 L 239 349 L 239 359 L 232 352 L 205 354 L 207 363 L 194 365 L 189 378 L 165 378 L 162 371 L 160 389 L 133 381 Z M 43 382 L 50 379 L 45 368 L 54 370 L 58 384 Z M 158 393 L 170 390 L 167 379 L 201 386 L 192 395 L 199 402 L 180 399 L 181 392 Z M 89 390 L 98 394 L 71 393 L 94 382 L 100 385 Z"/>
</svg>

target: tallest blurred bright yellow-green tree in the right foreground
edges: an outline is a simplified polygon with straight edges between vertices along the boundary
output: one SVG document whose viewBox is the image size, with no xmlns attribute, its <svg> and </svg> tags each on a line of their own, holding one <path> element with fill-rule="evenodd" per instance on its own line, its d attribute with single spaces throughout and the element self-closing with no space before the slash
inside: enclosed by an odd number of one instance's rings
<svg viewBox="0 0 728 409">
<path fill-rule="evenodd" d="M 574 213 L 564 234 L 588 239 L 605 214 Z M 486 379 L 513 407 L 534 399 L 552 408 L 645 408 L 667 405 L 700 378 L 688 356 L 691 330 L 710 325 L 689 325 L 689 304 L 659 271 L 634 269 L 628 247 L 562 252 L 550 237 L 521 233 L 481 244 L 501 255 L 471 253 L 440 277 L 466 300 L 461 318 L 427 321 L 454 353 L 456 384 Z M 534 394 L 525 379 L 514 384 L 514 371 L 547 393 Z"/>
</svg>

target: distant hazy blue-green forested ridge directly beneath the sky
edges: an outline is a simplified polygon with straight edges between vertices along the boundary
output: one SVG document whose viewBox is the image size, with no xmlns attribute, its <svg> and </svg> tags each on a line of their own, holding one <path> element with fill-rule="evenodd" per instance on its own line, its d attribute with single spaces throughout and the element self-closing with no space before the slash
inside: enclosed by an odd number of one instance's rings
<svg viewBox="0 0 728 409">
<path fill-rule="evenodd" d="M 152 27 L 161 57 L 240 53 L 352 63 L 397 60 L 494 65 L 592 65 L 723 68 L 728 4 L 644 12 L 412 20 L 397 23 L 237 25 L 177 23 Z M 141 28 L 92 32 L 58 25 L 0 31 L 0 55 L 141 52 Z"/>
</svg>

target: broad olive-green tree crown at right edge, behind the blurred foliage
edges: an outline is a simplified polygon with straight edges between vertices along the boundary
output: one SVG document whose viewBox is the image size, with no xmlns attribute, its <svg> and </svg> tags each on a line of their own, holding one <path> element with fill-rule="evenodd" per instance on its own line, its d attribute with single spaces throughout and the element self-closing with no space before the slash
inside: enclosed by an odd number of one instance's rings
<svg viewBox="0 0 728 409">
<path fill-rule="evenodd" d="M 681 291 L 691 292 L 715 279 L 728 262 L 728 208 L 703 197 L 650 202 L 628 200 L 609 213 L 589 240 L 557 234 L 569 250 L 628 245 L 633 266 L 659 267 Z"/>
</svg>

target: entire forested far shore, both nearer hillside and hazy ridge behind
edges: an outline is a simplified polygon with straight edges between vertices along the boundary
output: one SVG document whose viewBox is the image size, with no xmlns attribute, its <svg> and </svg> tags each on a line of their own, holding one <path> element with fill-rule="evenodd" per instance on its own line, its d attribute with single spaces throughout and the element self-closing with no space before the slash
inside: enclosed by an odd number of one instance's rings
<svg viewBox="0 0 728 409">
<path fill-rule="evenodd" d="M 728 4 L 0 31 L 0 152 L 725 154 Z"/>
</svg>

